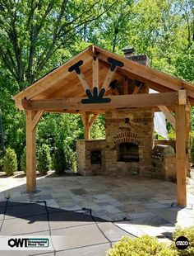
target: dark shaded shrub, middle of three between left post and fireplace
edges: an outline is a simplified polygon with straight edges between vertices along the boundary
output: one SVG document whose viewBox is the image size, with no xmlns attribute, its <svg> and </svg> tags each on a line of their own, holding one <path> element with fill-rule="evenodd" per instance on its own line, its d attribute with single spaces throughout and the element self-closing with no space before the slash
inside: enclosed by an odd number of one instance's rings
<svg viewBox="0 0 194 256">
<path fill-rule="evenodd" d="M 65 154 L 62 148 L 56 148 L 53 154 L 53 168 L 55 173 L 60 175 L 66 168 Z"/>
</svg>

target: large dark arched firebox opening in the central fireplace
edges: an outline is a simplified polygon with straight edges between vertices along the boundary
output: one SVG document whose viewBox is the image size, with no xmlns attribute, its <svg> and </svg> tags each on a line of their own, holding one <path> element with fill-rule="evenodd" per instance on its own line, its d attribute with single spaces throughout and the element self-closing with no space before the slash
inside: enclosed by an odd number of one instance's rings
<svg viewBox="0 0 194 256">
<path fill-rule="evenodd" d="M 119 162 L 139 162 L 139 146 L 133 143 L 121 143 L 118 145 Z"/>
</svg>

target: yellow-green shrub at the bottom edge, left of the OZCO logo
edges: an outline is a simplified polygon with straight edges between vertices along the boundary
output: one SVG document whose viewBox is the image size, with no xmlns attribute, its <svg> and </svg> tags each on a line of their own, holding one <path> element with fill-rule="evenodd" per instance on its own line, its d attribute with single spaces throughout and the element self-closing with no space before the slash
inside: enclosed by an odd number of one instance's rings
<svg viewBox="0 0 194 256">
<path fill-rule="evenodd" d="M 130 239 L 122 237 L 122 239 L 109 249 L 107 256 L 175 256 L 177 255 L 173 249 L 169 249 L 166 244 L 159 243 L 155 238 L 149 235 L 143 235 L 140 238 Z"/>
</svg>

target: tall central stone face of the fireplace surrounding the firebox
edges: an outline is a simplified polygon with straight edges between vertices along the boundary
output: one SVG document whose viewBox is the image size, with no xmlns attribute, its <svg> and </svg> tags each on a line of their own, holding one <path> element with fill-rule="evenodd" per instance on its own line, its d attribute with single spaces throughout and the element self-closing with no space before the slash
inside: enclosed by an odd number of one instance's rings
<svg viewBox="0 0 194 256">
<path fill-rule="evenodd" d="M 153 116 L 151 109 L 143 108 L 105 112 L 105 173 L 138 173 L 150 176 Z M 123 142 L 139 145 L 139 162 L 118 161 L 118 144 Z"/>
</svg>

